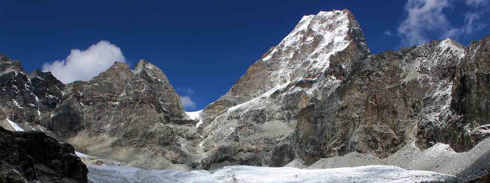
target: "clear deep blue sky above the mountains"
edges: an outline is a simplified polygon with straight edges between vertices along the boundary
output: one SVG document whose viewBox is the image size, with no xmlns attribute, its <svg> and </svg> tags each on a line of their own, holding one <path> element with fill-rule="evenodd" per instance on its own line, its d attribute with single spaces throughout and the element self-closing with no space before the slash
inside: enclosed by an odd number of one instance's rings
<svg viewBox="0 0 490 183">
<path fill-rule="evenodd" d="M 451 3 L 453 3 L 451 1 Z M 106 40 L 120 47 L 131 66 L 145 59 L 160 67 L 193 111 L 222 96 L 303 15 L 347 8 L 361 24 L 373 53 L 402 45 L 397 27 L 406 19 L 405 0 L 260 1 L 4 1 L 0 7 L 0 53 L 32 72 L 63 60 L 70 50 Z M 483 6 L 483 4 L 482 4 Z M 479 11 L 454 2 L 444 9 L 454 27 L 463 14 Z M 488 14 L 487 14 L 488 15 Z M 482 18 L 486 19 L 486 18 Z M 488 19 L 487 19 L 488 20 Z M 385 34 L 391 32 L 391 36 Z M 486 25 L 456 41 L 467 45 L 489 33 Z M 437 31 L 427 32 L 440 39 Z"/>
</svg>

